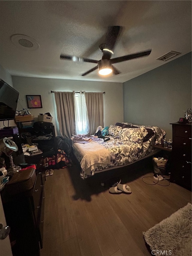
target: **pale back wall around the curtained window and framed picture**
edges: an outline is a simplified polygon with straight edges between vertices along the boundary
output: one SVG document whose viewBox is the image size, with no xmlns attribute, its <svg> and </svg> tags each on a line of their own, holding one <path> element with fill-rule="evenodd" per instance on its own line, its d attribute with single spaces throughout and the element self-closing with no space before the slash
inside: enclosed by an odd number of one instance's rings
<svg viewBox="0 0 192 256">
<path fill-rule="evenodd" d="M 63 80 L 36 77 L 18 77 L 13 76 L 13 86 L 19 92 L 19 101 L 17 110 L 27 108 L 26 95 L 41 95 L 43 108 L 31 109 L 30 112 L 35 117 L 39 113 L 49 112 L 52 116 L 52 122 L 56 125 L 58 131 L 58 121 L 56 118 L 56 106 L 54 93 L 52 91 L 73 90 L 86 92 L 106 92 L 104 94 L 104 126 L 110 126 L 116 122 L 123 122 L 123 84 L 110 82 Z"/>
</svg>

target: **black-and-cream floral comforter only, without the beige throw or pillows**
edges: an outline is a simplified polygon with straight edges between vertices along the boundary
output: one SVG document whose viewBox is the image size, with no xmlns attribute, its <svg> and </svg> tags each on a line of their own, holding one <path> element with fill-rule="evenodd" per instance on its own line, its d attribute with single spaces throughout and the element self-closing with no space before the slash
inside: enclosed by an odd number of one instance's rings
<svg viewBox="0 0 192 256">
<path fill-rule="evenodd" d="M 106 149 L 109 150 L 110 162 L 108 164 L 95 163 L 92 166 L 89 166 L 88 168 L 83 166 L 80 172 L 80 177 L 82 179 L 85 179 L 90 176 L 93 176 L 97 171 L 102 171 L 117 166 L 121 167 L 123 165 L 133 163 L 139 160 L 140 158 L 143 158 L 144 156 L 150 154 L 154 150 L 153 144 L 161 143 L 161 140 L 163 138 L 163 132 L 158 127 L 145 127 L 152 129 L 154 131 L 154 135 L 149 140 L 143 142 L 142 146 L 138 146 L 138 143 L 136 142 L 121 140 L 114 136 L 107 136 L 110 138 L 110 140 L 106 142 L 104 142 L 103 139 L 94 142 L 99 143 L 100 145 L 104 146 Z M 86 145 L 87 144 L 83 144 L 85 148 Z M 81 151 L 78 148 L 78 143 L 73 143 L 73 151 L 77 160 L 81 164 L 82 158 L 85 158 L 85 155 L 81 154 Z"/>
</svg>

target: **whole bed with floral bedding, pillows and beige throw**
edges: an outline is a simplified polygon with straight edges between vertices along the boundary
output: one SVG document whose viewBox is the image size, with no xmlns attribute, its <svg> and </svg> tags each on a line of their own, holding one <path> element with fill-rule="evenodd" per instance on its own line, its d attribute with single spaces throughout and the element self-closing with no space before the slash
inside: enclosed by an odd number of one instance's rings
<svg viewBox="0 0 192 256">
<path fill-rule="evenodd" d="M 80 177 L 133 164 L 157 153 L 154 144 L 161 144 L 166 132 L 157 126 L 132 123 L 110 125 L 108 141 L 97 136 L 71 137 L 73 153 L 80 163 Z"/>
</svg>

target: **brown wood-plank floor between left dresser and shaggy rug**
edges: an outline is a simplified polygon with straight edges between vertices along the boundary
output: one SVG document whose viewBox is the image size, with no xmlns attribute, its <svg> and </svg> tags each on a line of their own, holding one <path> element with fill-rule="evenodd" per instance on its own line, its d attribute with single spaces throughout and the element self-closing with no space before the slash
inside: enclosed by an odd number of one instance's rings
<svg viewBox="0 0 192 256">
<path fill-rule="evenodd" d="M 143 178 L 153 176 L 150 161 L 116 169 L 131 194 L 110 194 L 109 180 L 102 187 L 107 172 L 82 180 L 76 164 L 47 176 L 41 256 L 151 255 L 142 232 L 191 202 L 191 192 Z"/>
</svg>

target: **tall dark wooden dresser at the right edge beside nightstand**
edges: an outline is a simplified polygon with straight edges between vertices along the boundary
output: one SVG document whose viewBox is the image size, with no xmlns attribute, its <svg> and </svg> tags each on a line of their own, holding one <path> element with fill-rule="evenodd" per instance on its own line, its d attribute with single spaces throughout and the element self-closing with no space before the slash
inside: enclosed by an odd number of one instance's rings
<svg viewBox="0 0 192 256">
<path fill-rule="evenodd" d="M 170 182 L 191 190 L 191 124 L 171 123 L 173 148 Z"/>
</svg>

